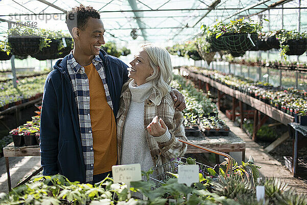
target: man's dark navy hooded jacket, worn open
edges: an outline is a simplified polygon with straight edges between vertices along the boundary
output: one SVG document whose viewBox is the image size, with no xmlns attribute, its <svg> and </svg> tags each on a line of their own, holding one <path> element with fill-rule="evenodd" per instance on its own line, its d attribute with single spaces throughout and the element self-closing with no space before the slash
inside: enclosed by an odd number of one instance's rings
<svg viewBox="0 0 307 205">
<path fill-rule="evenodd" d="M 100 50 L 106 82 L 117 116 L 128 66 Z M 46 78 L 40 122 L 40 154 L 43 175 L 62 174 L 70 181 L 85 182 L 78 108 L 67 70 L 67 58 L 58 60 Z M 111 120 L 111 118 L 110 118 Z"/>
</svg>

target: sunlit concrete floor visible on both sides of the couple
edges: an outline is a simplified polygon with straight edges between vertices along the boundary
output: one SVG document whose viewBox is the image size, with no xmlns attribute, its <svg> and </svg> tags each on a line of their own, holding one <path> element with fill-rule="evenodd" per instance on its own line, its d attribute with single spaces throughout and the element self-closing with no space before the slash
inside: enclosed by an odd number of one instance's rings
<svg viewBox="0 0 307 205">
<path fill-rule="evenodd" d="M 245 158 L 247 160 L 250 155 L 254 157 L 255 165 L 262 167 L 259 170 L 261 176 L 279 178 L 288 183 L 289 187 L 296 189 L 298 193 L 307 193 L 307 183 L 294 178 L 286 167 L 266 153 L 256 142 L 252 141 L 242 129 L 234 126 L 226 115 L 222 112 L 219 115 L 226 121 L 230 130 L 246 142 Z M 9 157 L 9 163 L 12 187 L 15 187 L 20 180 L 27 178 L 27 176 L 39 169 L 40 157 Z M 0 175 L 0 192 L 7 193 L 8 183 L 4 157 L 0 158 Z"/>
</svg>

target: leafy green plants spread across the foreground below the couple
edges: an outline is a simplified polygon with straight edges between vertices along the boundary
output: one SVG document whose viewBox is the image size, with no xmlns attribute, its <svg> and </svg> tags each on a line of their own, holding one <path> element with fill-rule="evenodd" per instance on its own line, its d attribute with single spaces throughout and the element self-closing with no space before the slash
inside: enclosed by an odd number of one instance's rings
<svg viewBox="0 0 307 205">
<path fill-rule="evenodd" d="M 186 159 L 178 164 L 195 164 L 195 159 Z M 225 173 L 228 161 L 216 165 L 214 169 L 200 169 L 200 182 L 191 187 L 178 183 L 176 171 L 169 173 L 163 183 L 156 184 L 149 179 L 152 170 L 142 171 L 147 181 L 132 181 L 127 188 L 124 183 L 115 183 L 113 178 L 106 177 L 95 185 L 71 182 L 62 175 L 37 176 L 30 182 L 14 188 L 10 193 L 0 194 L 1 204 L 297 204 L 305 205 L 307 197 L 290 189 L 278 179 L 265 178 L 256 180 L 260 167 L 254 165 L 250 157 L 248 162 L 238 165 L 233 161 L 233 175 Z M 252 171 L 250 171 L 252 170 Z M 265 188 L 265 201 L 257 201 L 255 186 Z M 130 192 L 140 192 L 147 197 L 138 199 L 130 197 Z M 172 202 L 171 202 L 172 200 Z"/>
</svg>

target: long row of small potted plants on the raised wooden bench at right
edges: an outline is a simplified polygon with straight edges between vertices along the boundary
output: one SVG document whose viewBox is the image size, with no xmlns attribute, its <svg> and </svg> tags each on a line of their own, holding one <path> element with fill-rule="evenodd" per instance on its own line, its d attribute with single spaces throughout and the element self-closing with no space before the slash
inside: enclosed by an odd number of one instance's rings
<svg viewBox="0 0 307 205">
<path fill-rule="evenodd" d="M 193 72 L 200 72 L 206 77 L 234 90 L 238 90 L 256 99 L 264 101 L 266 104 L 292 116 L 307 115 L 307 92 L 305 90 L 273 87 L 269 83 L 254 81 L 253 79 L 234 76 L 216 70 L 196 67 L 189 67 L 189 69 Z"/>
</svg>

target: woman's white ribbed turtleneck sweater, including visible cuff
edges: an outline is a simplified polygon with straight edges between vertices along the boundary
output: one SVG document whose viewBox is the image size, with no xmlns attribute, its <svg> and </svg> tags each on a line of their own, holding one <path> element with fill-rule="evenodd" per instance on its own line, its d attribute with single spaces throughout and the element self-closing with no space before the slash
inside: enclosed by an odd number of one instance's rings
<svg viewBox="0 0 307 205">
<path fill-rule="evenodd" d="M 137 86 L 132 80 L 129 83 L 129 89 L 131 101 L 123 128 L 121 164 L 140 163 L 141 170 L 148 171 L 154 164 L 146 140 L 148 131 L 144 126 L 144 103 L 152 92 L 152 84 L 145 83 Z M 171 135 L 166 130 L 165 134 L 154 138 L 159 142 L 167 142 Z"/>
</svg>

